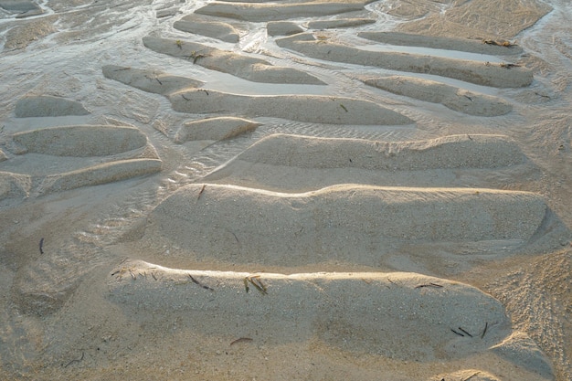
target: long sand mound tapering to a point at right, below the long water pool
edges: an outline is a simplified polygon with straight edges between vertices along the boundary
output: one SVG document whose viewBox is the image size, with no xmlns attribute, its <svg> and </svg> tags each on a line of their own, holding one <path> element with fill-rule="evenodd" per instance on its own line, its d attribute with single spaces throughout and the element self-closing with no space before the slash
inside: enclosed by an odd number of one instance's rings
<svg viewBox="0 0 572 381">
<path fill-rule="evenodd" d="M 249 96 L 214 90 L 185 90 L 169 96 L 173 109 L 190 113 L 232 113 L 326 124 L 401 125 L 412 121 L 371 101 L 319 95 Z M 320 111 L 320 112 L 317 112 Z"/>
</svg>

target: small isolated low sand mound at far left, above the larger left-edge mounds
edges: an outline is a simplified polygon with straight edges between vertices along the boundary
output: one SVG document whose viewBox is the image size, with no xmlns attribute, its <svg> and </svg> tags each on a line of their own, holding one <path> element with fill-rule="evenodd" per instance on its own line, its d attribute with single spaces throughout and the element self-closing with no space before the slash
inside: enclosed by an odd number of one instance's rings
<svg viewBox="0 0 572 381">
<path fill-rule="evenodd" d="M 16 102 L 16 118 L 87 115 L 87 111 L 78 101 L 48 95 L 28 96 Z"/>
</svg>

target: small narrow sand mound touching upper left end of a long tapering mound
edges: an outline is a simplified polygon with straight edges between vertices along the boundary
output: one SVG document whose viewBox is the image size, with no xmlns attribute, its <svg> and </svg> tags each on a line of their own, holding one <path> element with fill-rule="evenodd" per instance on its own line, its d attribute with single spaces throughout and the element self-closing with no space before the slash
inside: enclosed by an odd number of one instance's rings
<svg viewBox="0 0 572 381">
<path fill-rule="evenodd" d="M 153 69 L 132 69 L 106 65 L 102 70 L 105 78 L 115 79 L 134 88 L 155 94 L 166 95 L 177 90 L 198 88 L 204 84 L 200 80 L 172 76 Z"/>
</svg>

